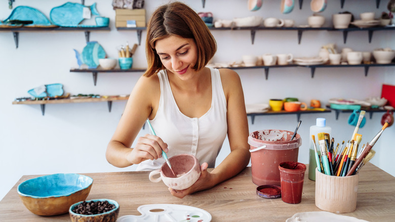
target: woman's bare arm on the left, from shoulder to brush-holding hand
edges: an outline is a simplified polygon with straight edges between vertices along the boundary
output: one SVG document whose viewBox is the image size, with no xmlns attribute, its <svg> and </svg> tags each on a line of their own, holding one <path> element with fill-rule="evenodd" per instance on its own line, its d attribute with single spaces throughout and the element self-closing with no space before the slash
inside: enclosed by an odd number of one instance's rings
<svg viewBox="0 0 395 222">
<path fill-rule="evenodd" d="M 161 138 L 153 135 L 139 137 L 134 148 L 131 148 L 141 127 L 156 108 L 160 97 L 159 80 L 157 76 L 141 77 L 126 104 L 121 120 L 107 146 L 106 159 L 116 167 L 127 167 L 141 163 L 144 160 L 157 159 L 162 150 L 167 152 L 167 144 Z"/>
</svg>

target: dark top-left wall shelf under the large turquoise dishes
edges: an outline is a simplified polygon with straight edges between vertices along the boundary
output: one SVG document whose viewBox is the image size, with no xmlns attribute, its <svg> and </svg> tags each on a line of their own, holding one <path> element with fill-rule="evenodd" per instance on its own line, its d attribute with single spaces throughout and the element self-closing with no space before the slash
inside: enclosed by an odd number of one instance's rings
<svg viewBox="0 0 395 222">
<path fill-rule="evenodd" d="M 109 31 L 109 27 L 90 27 L 90 28 L 71 28 L 71 27 L 20 27 L 20 28 L 0 28 L 0 31 L 11 31 L 14 35 L 16 48 L 19 46 L 19 32 L 34 32 L 34 31 L 84 31 L 85 40 L 89 42 L 89 35 L 91 31 Z"/>
</svg>

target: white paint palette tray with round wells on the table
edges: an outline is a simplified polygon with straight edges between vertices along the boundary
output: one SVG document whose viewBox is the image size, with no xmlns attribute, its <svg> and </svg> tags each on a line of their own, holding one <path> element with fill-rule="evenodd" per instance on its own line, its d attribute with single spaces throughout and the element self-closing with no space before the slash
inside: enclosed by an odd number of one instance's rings
<svg viewBox="0 0 395 222">
<path fill-rule="evenodd" d="M 141 215 L 125 215 L 117 222 L 208 222 L 211 214 L 206 210 L 178 204 L 149 204 L 137 208 Z"/>
</svg>

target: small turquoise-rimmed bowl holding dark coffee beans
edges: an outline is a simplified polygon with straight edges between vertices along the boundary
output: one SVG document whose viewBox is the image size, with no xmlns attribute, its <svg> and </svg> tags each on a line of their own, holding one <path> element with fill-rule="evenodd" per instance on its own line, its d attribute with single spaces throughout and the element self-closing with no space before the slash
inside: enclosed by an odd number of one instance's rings
<svg viewBox="0 0 395 222">
<path fill-rule="evenodd" d="M 108 203 L 115 205 L 115 208 L 105 213 L 91 214 L 91 215 L 74 213 L 73 209 L 77 207 L 78 204 L 83 202 L 81 201 L 70 206 L 68 212 L 70 214 L 71 221 L 72 222 L 103 222 L 103 221 L 115 222 L 120 212 L 120 205 L 116 201 L 110 199 L 95 199 L 95 200 L 88 200 L 86 202 L 90 203 L 97 201 L 108 201 Z"/>
</svg>

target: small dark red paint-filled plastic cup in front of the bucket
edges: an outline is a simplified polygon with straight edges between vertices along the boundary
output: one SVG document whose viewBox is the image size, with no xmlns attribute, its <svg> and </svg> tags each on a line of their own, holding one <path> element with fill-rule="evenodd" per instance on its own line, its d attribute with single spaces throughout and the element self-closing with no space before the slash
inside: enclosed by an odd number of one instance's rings
<svg viewBox="0 0 395 222">
<path fill-rule="evenodd" d="M 302 201 L 306 165 L 298 162 L 280 163 L 281 199 L 290 204 Z"/>
</svg>

